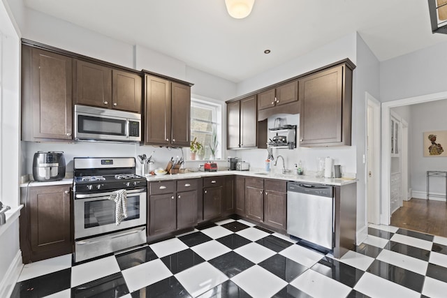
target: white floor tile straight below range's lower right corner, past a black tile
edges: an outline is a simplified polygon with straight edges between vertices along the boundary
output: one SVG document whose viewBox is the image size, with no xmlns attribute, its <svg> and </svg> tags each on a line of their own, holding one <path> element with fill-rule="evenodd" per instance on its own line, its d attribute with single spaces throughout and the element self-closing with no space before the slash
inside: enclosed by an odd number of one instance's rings
<svg viewBox="0 0 447 298">
<path fill-rule="evenodd" d="M 130 292 L 140 290 L 173 275 L 160 259 L 123 270 L 122 274 Z"/>
</svg>

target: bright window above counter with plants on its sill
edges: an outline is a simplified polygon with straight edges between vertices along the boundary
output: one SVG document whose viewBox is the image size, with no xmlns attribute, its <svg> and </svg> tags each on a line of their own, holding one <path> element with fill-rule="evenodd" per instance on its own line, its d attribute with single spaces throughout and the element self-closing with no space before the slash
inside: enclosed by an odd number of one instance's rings
<svg viewBox="0 0 447 298">
<path fill-rule="evenodd" d="M 191 98 L 191 141 L 197 138 L 205 148 L 204 158 L 211 156 L 213 126 L 217 131 L 216 158 L 221 157 L 221 105 Z"/>
</svg>

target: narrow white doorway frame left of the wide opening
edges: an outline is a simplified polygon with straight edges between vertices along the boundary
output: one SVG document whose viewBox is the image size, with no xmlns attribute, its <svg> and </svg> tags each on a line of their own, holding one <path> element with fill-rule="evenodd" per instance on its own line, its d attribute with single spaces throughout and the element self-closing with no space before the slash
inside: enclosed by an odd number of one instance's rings
<svg viewBox="0 0 447 298">
<path fill-rule="evenodd" d="M 381 103 L 376 100 L 371 94 L 366 92 L 366 113 L 367 113 L 367 127 L 365 133 L 365 198 L 367 198 L 367 208 L 365 218 L 367 223 L 380 223 L 380 152 L 381 152 L 381 137 L 380 137 L 380 117 L 381 117 Z M 368 110 L 372 109 L 372 119 L 368 117 Z M 369 131 L 372 135 L 369 136 Z M 370 137 L 370 140 L 368 140 Z M 368 151 L 369 144 L 372 144 L 370 151 Z M 372 154 L 369 156 L 369 154 Z M 371 161 L 371 163 L 369 163 Z M 369 171 L 371 171 L 372 179 L 368 179 Z M 371 183 L 369 183 L 369 181 Z"/>
</svg>

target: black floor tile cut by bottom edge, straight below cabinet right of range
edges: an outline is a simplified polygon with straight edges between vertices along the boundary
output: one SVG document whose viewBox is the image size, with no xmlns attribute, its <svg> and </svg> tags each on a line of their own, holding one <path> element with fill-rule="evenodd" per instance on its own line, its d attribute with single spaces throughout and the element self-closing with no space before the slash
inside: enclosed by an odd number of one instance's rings
<svg viewBox="0 0 447 298">
<path fill-rule="evenodd" d="M 188 292 L 183 288 L 183 285 L 177 281 L 175 276 L 170 276 L 163 281 L 148 285 L 146 288 L 136 290 L 131 293 L 134 298 L 170 298 L 170 297 L 180 297 L 187 298 L 191 297 Z"/>
</svg>

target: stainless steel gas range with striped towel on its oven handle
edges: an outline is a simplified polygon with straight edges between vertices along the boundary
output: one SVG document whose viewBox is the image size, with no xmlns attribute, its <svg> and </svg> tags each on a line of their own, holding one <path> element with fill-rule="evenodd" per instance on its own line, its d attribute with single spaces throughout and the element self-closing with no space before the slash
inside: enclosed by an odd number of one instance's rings
<svg viewBox="0 0 447 298">
<path fill-rule="evenodd" d="M 73 168 L 75 262 L 145 244 L 147 181 L 135 158 L 73 158 Z M 110 200 L 117 191 L 126 194 L 123 221 Z"/>
</svg>

